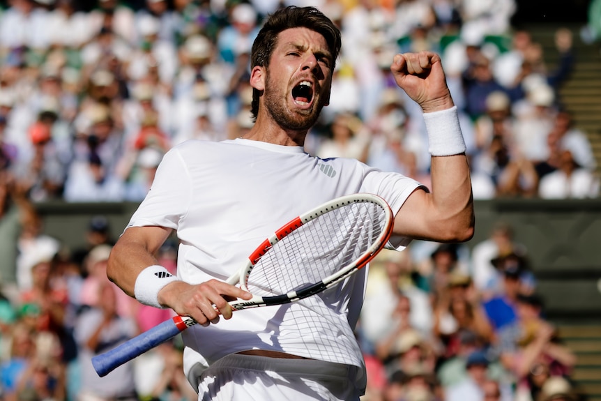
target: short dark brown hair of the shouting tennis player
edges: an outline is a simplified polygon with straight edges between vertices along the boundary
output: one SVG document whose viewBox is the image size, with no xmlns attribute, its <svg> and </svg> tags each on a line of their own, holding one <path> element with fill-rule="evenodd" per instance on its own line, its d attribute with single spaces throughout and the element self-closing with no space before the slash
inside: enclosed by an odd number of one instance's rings
<svg viewBox="0 0 601 401">
<path fill-rule="evenodd" d="M 277 35 L 291 28 L 307 28 L 324 36 L 328 44 L 328 50 L 332 53 L 332 70 L 334 70 L 342 46 L 340 29 L 317 8 L 297 6 L 281 8 L 268 16 L 257 38 L 252 43 L 251 68 L 254 66 L 267 67 L 275 45 L 277 45 Z M 250 112 L 253 119 L 256 119 L 259 113 L 259 91 L 257 89 L 252 90 Z"/>
</svg>

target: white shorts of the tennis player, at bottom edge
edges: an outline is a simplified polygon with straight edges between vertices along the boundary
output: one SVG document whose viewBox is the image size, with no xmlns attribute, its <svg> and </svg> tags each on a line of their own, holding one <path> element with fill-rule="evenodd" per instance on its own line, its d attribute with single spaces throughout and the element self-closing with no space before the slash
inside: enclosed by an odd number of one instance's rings
<svg viewBox="0 0 601 401">
<path fill-rule="evenodd" d="M 199 401 L 357 401 L 358 368 L 314 359 L 231 354 L 199 379 Z"/>
</svg>

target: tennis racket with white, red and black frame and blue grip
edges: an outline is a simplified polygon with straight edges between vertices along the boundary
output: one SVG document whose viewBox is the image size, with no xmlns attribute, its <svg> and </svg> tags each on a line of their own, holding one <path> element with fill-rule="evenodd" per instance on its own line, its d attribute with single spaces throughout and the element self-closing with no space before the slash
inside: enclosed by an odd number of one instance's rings
<svg viewBox="0 0 601 401">
<path fill-rule="evenodd" d="M 232 310 L 282 305 L 332 287 L 363 268 L 386 245 L 393 213 L 384 199 L 360 193 L 326 202 L 268 237 L 227 279 L 253 294 L 231 301 Z M 118 347 L 94 356 L 100 377 L 197 322 L 186 316 L 163 321 Z"/>
</svg>

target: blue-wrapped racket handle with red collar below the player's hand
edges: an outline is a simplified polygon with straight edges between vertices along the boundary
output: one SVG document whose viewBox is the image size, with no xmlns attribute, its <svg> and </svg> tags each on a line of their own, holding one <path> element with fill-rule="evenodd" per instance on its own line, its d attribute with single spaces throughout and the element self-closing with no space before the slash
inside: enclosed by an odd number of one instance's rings
<svg viewBox="0 0 601 401">
<path fill-rule="evenodd" d="M 150 330 L 123 342 L 123 344 L 114 349 L 94 356 L 92 358 L 92 365 L 98 376 L 105 377 L 115 368 L 123 365 L 123 363 L 131 361 L 133 358 L 144 354 L 144 352 L 174 338 L 195 323 L 189 317 L 176 316 L 172 319 L 167 319 Z"/>
</svg>

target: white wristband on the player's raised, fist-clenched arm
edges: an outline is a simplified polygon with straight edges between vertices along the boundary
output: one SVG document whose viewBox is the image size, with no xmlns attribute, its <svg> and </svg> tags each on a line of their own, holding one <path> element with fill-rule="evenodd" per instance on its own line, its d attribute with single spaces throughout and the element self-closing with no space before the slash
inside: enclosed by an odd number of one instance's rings
<svg viewBox="0 0 601 401">
<path fill-rule="evenodd" d="M 432 156 L 459 155 L 466 151 L 457 106 L 439 112 L 424 113 L 424 121 L 428 133 L 428 151 Z"/>
</svg>

